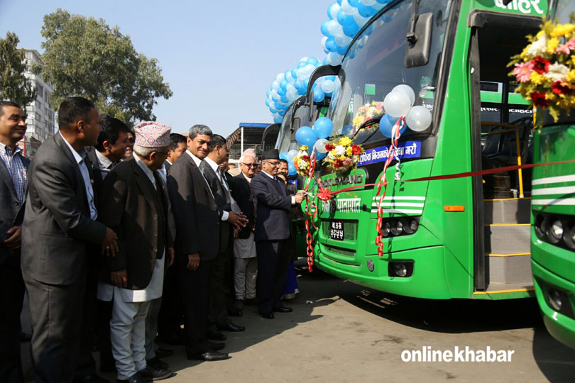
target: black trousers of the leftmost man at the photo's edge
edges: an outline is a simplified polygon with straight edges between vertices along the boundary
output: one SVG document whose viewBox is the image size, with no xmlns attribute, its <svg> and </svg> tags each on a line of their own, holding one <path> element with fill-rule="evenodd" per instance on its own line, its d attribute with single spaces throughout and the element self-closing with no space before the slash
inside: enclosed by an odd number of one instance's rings
<svg viewBox="0 0 575 383">
<path fill-rule="evenodd" d="M 0 265 L 0 382 L 23 382 L 20 360 L 20 313 L 24 281 L 20 256 L 10 255 Z"/>
</svg>

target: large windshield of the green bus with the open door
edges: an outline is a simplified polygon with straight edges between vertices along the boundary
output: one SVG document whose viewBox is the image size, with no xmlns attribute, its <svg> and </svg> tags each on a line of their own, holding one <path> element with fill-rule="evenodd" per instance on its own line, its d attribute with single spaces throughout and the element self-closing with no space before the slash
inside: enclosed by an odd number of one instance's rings
<svg viewBox="0 0 575 383">
<path fill-rule="evenodd" d="M 396 4 L 363 31 L 344 58 L 344 84 L 332 99 L 330 117 L 335 135 L 341 134 L 344 127 L 343 133 L 356 131 L 361 125 L 358 121 L 365 126 L 369 125 L 369 118 L 380 118 L 383 112 L 378 110 L 383 107 L 385 95 L 399 84 L 412 87 L 415 105 L 433 111 L 450 6 L 450 0 L 423 1 L 420 6 L 420 14 L 433 13 L 432 45 L 425 66 L 405 68 L 404 65 L 412 1 Z M 431 131 L 426 132 L 429 135 Z M 388 138 L 380 133 L 378 125 L 373 125 L 359 131 L 354 142 L 366 144 L 385 139 Z"/>
</svg>

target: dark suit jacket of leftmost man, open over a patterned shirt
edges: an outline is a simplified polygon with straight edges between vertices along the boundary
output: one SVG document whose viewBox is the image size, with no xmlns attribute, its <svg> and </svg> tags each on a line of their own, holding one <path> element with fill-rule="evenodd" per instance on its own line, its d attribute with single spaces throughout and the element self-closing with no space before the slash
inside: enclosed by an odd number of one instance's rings
<svg viewBox="0 0 575 383">
<path fill-rule="evenodd" d="M 21 158 L 22 164 L 28 169 L 30 159 L 23 155 Z M 9 237 L 6 231 L 13 226 L 22 225 L 24 206 L 26 206 L 26 199 L 20 204 L 12 177 L 4 161 L 0 160 L 0 266 L 11 256 L 8 246 L 3 244 L 4 240 Z"/>
</svg>

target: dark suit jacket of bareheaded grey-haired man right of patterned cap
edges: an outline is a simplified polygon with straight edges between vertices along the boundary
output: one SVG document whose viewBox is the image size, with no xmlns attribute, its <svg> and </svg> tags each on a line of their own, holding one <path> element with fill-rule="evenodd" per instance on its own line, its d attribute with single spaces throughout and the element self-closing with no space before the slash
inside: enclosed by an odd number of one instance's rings
<svg viewBox="0 0 575 383">
<path fill-rule="evenodd" d="M 177 256 L 199 252 L 200 260 L 219 254 L 219 209 L 204 176 L 185 153 L 170 167 L 168 195 L 177 226 Z"/>
</svg>

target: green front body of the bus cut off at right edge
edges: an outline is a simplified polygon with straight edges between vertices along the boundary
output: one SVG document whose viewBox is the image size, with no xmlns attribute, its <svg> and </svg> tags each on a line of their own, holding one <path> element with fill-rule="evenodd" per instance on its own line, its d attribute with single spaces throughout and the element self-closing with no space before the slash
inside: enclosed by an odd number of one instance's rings
<svg viewBox="0 0 575 383">
<path fill-rule="evenodd" d="M 575 159 L 575 126 L 558 124 L 535 131 L 534 162 L 572 159 Z M 575 199 L 575 193 L 555 193 L 564 191 L 556 188 L 575 187 L 575 180 L 557 182 L 557 179 L 553 179 L 565 176 L 574 178 L 575 164 L 542 166 L 533 170 L 533 191 L 538 194 L 532 199 L 532 224 L 535 223 L 537 213 L 575 216 L 575 204 L 569 204 L 569 199 Z M 540 179 L 547 179 L 547 182 L 540 182 Z M 545 201 L 540 201 L 538 204 L 538 200 Z M 543 242 L 537 238 L 535 229 L 532 228 L 531 257 L 535 293 L 545 326 L 554 338 L 575 348 L 575 320 L 562 313 L 556 313 L 547 303 L 544 294 L 549 287 L 562 289 L 567 292 L 569 303 L 575 312 L 575 252 Z"/>
</svg>

